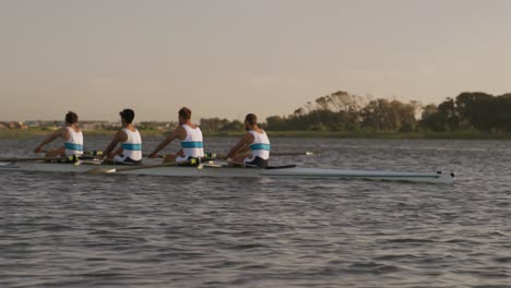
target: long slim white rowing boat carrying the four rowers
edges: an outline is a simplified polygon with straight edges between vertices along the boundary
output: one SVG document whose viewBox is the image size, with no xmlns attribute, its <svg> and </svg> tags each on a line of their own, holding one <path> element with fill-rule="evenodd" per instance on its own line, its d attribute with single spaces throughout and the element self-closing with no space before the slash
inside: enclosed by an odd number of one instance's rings
<svg viewBox="0 0 511 288">
<path fill-rule="evenodd" d="M 64 163 L 45 161 L 10 161 L 0 165 L 0 171 L 37 171 L 37 172 L 70 172 L 85 173 L 91 169 L 104 168 L 106 171 L 120 170 L 116 173 L 122 175 L 147 175 L 169 177 L 234 177 L 234 178 L 329 178 L 329 179 L 365 179 L 365 180 L 390 180 L 412 181 L 429 183 L 453 183 L 454 173 L 438 172 L 395 172 L 395 171 L 368 171 L 368 170 L 343 170 L 328 168 L 304 168 L 295 165 L 259 168 L 234 168 L 225 165 L 205 164 L 198 167 L 147 167 L 146 169 L 134 169 L 122 171 L 127 166 L 120 165 L 72 165 Z M 201 169 L 202 168 L 202 169 Z"/>
</svg>

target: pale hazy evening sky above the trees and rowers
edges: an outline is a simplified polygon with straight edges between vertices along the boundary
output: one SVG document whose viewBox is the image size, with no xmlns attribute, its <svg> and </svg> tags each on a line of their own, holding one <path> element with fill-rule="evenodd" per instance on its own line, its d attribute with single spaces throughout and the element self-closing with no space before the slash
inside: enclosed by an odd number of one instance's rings
<svg viewBox="0 0 511 288">
<path fill-rule="evenodd" d="M 288 115 L 511 92 L 508 0 L 0 0 L 0 120 Z"/>
</svg>

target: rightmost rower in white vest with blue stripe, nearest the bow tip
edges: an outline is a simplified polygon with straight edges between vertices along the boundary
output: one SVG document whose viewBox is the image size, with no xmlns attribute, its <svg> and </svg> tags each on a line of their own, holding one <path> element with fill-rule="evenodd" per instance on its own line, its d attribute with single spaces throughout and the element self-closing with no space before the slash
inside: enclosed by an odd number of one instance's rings
<svg viewBox="0 0 511 288">
<path fill-rule="evenodd" d="M 258 127 L 255 115 L 245 117 L 245 130 L 248 133 L 227 153 L 226 158 L 235 166 L 268 167 L 270 140 L 266 132 Z"/>
</svg>

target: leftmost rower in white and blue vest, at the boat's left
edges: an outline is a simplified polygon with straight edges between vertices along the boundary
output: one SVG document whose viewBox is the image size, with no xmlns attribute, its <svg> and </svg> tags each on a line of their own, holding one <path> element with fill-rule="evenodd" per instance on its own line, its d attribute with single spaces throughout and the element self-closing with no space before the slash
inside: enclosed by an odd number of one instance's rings
<svg viewBox="0 0 511 288">
<path fill-rule="evenodd" d="M 61 137 L 64 141 L 62 147 L 58 149 L 49 149 L 46 153 L 46 157 L 56 156 L 72 156 L 83 154 L 83 134 L 82 130 L 78 127 L 78 115 L 73 111 L 69 111 L 66 115 L 66 124 L 57 130 L 54 134 L 45 139 L 39 146 L 34 149 L 34 153 L 41 153 L 43 146 L 50 143 L 51 141 Z"/>
</svg>

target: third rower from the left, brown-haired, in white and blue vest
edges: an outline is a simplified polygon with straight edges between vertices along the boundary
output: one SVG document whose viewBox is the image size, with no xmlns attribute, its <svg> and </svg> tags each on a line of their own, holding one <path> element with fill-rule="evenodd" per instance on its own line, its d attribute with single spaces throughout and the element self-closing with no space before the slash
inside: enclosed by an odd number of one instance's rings
<svg viewBox="0 0 511 288">
<path fill-rule="evenodd" d="M 191 122 L 191 110 L 182 107 L 178 112 L 179 127 L 177 127 L 150 154 L 148 158 L 156 158 L 157 153 L 165 148 L 175 139 L 181 141 L 181 148 L 166 155 L 164 163 L 187 161 L 190 158 L 204 157 L 201 129 Z"/>
</svg>

